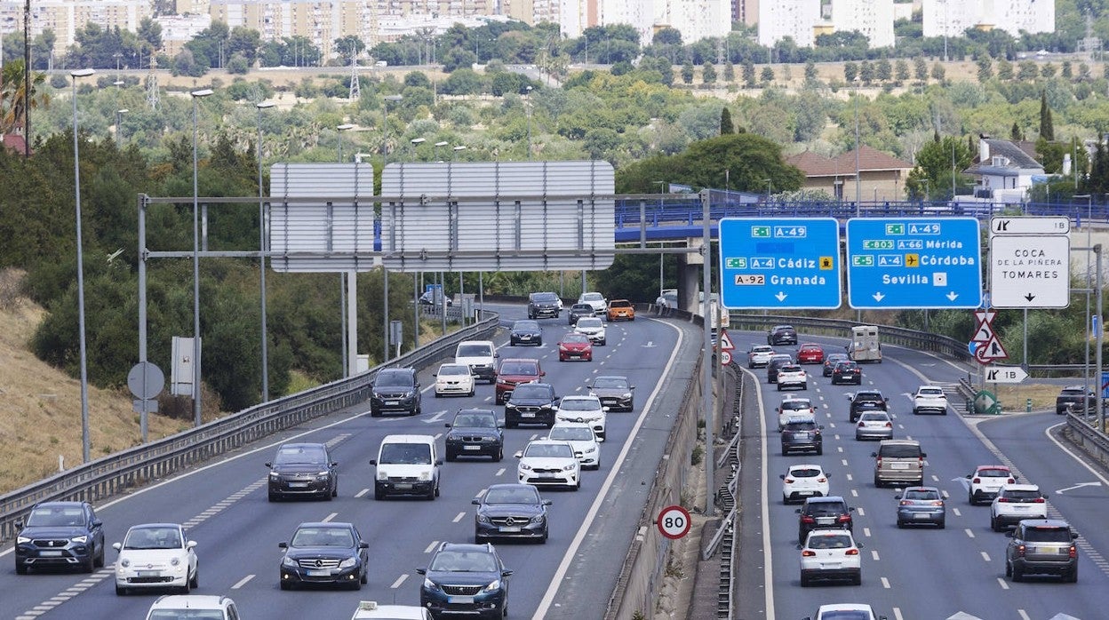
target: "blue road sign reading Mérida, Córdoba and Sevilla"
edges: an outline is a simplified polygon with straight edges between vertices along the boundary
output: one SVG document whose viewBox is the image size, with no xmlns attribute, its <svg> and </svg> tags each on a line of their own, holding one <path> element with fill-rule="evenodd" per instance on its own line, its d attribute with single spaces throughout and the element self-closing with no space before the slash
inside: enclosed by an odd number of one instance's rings
<svg viewBox="0 0 1109 620">
<path fill-rule="evenodd" d="M 853 308 L 981 305 L 981 244 L 974 217 L 853 217 L 846 262 Z"/>
</svg>

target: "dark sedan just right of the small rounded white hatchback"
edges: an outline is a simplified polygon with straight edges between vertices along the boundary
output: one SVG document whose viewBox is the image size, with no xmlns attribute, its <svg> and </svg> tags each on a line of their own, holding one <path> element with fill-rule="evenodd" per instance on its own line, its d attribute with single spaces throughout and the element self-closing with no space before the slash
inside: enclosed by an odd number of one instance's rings
<svg viewBox="0 0 1109 620">
<path fill-rule="evenodd" d="M 294 586 L 346 586 L 360 590 L 366 582 L 369 543 L 352 524 L 301 524 L 281 560 L 281 589 Z"/>
</svg>

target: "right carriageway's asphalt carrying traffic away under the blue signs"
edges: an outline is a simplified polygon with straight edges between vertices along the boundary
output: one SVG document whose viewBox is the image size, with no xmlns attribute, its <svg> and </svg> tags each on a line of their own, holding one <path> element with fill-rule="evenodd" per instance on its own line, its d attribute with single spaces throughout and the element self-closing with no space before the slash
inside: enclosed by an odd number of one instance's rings
<svg viewBox="0 0 1109 620">
<path fill-rule="evenodd" d="M 764 342 L 763 334 L 732 334 L 737 350 Z M 800 335 L 800 342 L 841 350 L 844 341 Z M 795 347 L 776 347 L 795 352 Z M 893 487 L 875 488 L 876 444 L 856 441 L 847 421 L 845 394 L 857 386 L 832 386 L 817 366 L 810 369 L 806 393 L 824 425 L 824 454 L 782 457 L 773 409 L 781 394 L 766 384 L 765 372 L 752 370 L 760 389 L 745 397 L 742 433 L 745 451 L 741 501 L 739 609 L 736 618 L 793 620 L 831 602 L 868 602 L 891 620 L 939 620 L 959 612 L 984 620 L 1047 620 L 1058 613 L 1092 620 L 1109 608 L 1109 550 L 1105 506 L 1109 480 L 1083 465 L 1049 433 L 1062 418 L 1048 414 L 965 418 L 914 416 L 909 394 L 924 383 L 950 383 L 966 369 L 929 354 L 884 347 L 883 364 L 863 366 L 863 387 L 881 389 L 895 416 L 894 436 L 920 441 L 927 453 L 925 484 L 947 497 L 947 527 L 898 529 Z M 742 357 L 742 356 L 737 356 Z M 740 359 L 745 362 L 745 357 Z M 815 376 L 812 376 L 815 373 Z M 963 403 L 952 402 L 955 407 Z M 863 585 L 820 582 L 801 588 L 796 549 L 796 505 L 781 500 L 779 475 L 787 464 L 818 463 L 831 474 L 832 495 L 856 507 L 854 532 L 864 545 Z M 1048 516 L 1064 518 L 1079 538 L 1079 580 L 1032 577 L 1015 583 L 1005 577 L 1007 538 L 989 528 L 989 507 L 967 502 L 965 476 L 977 465 L 1001 463 L 1016 468 L 1021 482 L 1040 485 L 1049 496 Z M 769 527 L 764 527 L 769 526 Z"/>
</svg>

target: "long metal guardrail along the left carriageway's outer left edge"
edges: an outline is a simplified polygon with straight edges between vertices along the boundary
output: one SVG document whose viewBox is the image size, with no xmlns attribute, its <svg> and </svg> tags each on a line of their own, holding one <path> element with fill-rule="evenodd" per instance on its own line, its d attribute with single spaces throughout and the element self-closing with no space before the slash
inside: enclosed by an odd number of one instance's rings
<svg viewBox="0 0 1109 620">
<path fill-rule="evenodd" d="M 377 370 L 387 367 L 423 368 L 450 355 L 461 341 L 477 339 L 497 329 L 499 317 L 487 316 L 475 325 L 411 350 L 360 375 L 344 378 L 284 398 L 244 409 L 176 435 L 136 446 L 80 465 L 44 480 L 0 496 L 0 542 L 18 533 L 40 501 L 95 501 L 172 476 L 279 430 L 363 403 Z"/>
</svg>

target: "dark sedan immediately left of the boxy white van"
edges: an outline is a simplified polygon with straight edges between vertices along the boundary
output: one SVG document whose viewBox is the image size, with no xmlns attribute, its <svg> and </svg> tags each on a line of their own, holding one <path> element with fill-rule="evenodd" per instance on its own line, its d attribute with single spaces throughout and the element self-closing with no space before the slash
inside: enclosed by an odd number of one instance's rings
<svg viewBox="0 0 1109 620">
<path fill-rule="evenodd" d="M 289 497 L 332 499 L 339 494 L 338 464 L 324 444 L 282 444 L 269 468 L 269 501 Z"/>
</svg>

